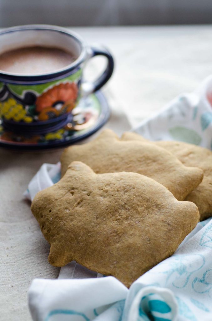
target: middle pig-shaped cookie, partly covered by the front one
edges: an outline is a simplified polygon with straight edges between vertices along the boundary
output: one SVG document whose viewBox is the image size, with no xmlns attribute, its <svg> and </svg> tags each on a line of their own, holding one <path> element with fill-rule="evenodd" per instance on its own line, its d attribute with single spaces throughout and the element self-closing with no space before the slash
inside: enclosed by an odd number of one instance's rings
<svg viewBox="0 0 212 321">
<path fill-rule="evenodd" d="M 199 168 L 184 166 L 172 153 L 151 143 L 121 141 L 112 130 L 95 140 L 73 145 L 61 155 L 61 173 L 72 161 L 82 161 L 95 173 L 135 172 L 155 179 L 182 201 L 203 178 Z"/>
</svg>

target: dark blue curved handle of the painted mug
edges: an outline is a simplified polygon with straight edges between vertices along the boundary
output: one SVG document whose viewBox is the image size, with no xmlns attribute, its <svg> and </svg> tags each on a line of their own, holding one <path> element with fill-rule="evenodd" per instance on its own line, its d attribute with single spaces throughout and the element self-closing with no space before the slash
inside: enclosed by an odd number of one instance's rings
<svg viewBox="0 0 212 321">
<path fill-rule="evenodd" d="M 114 69 L 114 60 L 110 52 L 105 47 L 90 47 L 91 53 L 89 58 L 95 56 L 105 56 L 107 58 L 107 66 L 101 76 L 97 78 L 94 82 L 82 82 L 82 97 L 85 97 L 91 94 L 94 91 L 99 90 L 102 86 L 110 79 L 113 69 Z"/>
</svg>

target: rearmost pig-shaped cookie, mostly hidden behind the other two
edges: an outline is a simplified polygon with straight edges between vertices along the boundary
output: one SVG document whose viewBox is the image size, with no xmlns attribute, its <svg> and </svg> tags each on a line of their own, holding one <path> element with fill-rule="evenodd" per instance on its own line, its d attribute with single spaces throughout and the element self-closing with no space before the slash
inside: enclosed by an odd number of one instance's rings
<svg viewBox="0 0 212 321">
<path fill-rule="evenodd" d="M 140 140 L 150 142 L 144 137 L 131 132 L 122 135 L 123 140 Z M 185 166 L 196 166 L 203 170 L 204 177 L 186 200 L 197 205 L 200 221 L 212 216 L 212 152 L 200 146 L 175 141 L 151 142 L 173 153 Z"/>
</svg>

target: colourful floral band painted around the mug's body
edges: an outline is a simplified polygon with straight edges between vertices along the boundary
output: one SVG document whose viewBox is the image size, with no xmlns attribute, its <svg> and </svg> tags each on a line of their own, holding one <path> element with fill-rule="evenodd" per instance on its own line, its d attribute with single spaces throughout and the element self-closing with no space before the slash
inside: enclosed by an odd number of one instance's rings
<svg viewBox="0 0 212 321">
<path fill-rule="evenodd" d="M 79 75 L 69 76 L 62 82 L 49 82 L 48 86 L 38 84 L 33 89 L 28 85 L 2 84 L 0 117 L 5 121 L 29 124 L 70 113 L 78 101 Z"/>
</svg>

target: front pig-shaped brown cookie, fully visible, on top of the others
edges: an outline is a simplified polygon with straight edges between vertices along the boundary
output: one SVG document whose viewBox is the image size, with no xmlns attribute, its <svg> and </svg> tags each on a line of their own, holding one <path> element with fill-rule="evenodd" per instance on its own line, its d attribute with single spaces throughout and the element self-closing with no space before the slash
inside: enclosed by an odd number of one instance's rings
<svg viewBox="0 0 212 321">
<path fill-rule="evenodd" d="M 177 201 L 153 179 L 95 174 L 81 162 L 38 192 L 31 209 L 51 245 L 49 263 L 75 260 L 127 287 L 172 255 L 199 221 L 195 204 Z"/>
</svg>

